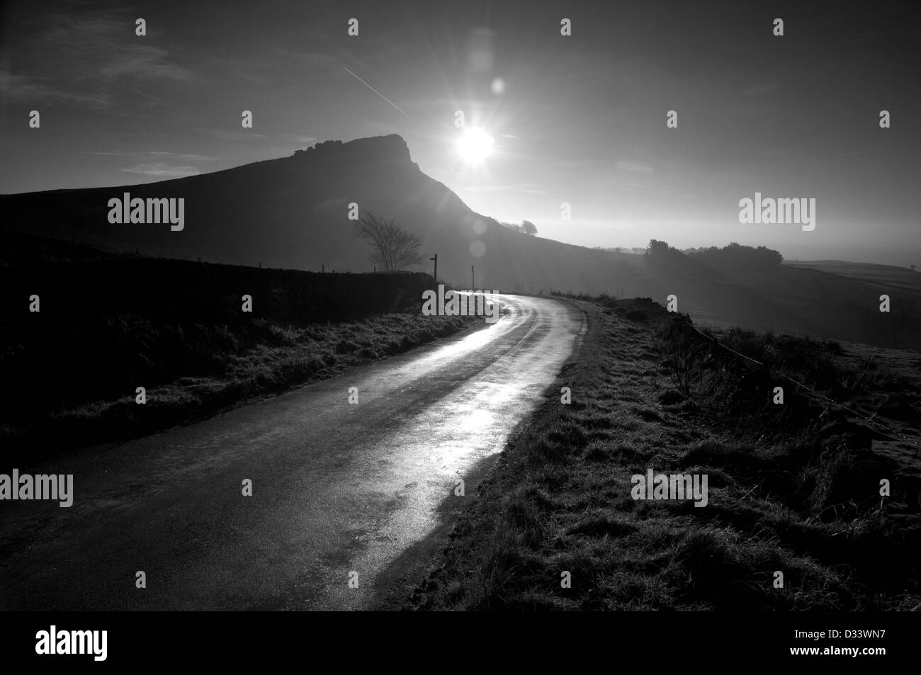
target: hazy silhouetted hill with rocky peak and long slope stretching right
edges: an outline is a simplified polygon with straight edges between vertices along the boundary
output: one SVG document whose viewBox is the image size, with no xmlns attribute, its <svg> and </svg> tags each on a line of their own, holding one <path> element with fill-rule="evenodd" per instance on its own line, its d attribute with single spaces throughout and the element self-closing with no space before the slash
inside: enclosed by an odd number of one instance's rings
<svg viewBox="0 0 921 675">
<path fill-rule="evenodd" d="M 184 228 L 110 224 L 109 200 L 124 192 L 184 198 Z M 921 349 L 921 287 L 909 270 L 882 273 L 869 268 L 883 266 L 843 262 L 734 271 L 653 267 L 633 253 L 528 236 L 473 212 L 426 176 L 395 134 L 328 141 L 292 157 L 144 185 L 0 195 L 0 213 L 6 228 L 104 250 L 370 272 L 367 245 L 351 234 L 352 202 L 422 237 L 424 257 L 437 253 L 438 276 L 458 287 L 470 285 L 473 265 L 480 288 L 608 293 L 660 303 L 674 294 L 679 310 L 695 320 Z M 430 265 L 415 271 L 430 273 Z M 890 314 L 878 309 L 881 294 L 892 296 Z"/>
</svg>

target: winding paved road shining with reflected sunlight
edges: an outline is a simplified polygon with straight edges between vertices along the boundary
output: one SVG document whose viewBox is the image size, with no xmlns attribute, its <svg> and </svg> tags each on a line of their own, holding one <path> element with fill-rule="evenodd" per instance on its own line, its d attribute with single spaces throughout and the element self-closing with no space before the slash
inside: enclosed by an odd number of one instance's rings
<svg viewBox="0 0 921 675">
<path fill-rule="evenodd" d="M 497 298 L 482 330 L 29 467 L 74 474 L 74 505 L 0 502 L 0 609 L 371 607 L 437 550 L 584 332 L 568 303 Z"/>
</svg>

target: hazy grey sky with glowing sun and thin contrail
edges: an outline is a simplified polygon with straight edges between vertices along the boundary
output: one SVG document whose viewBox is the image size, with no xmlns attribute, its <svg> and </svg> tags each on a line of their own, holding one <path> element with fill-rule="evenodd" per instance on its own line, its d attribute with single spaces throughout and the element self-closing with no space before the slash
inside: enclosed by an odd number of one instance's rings
<svg viewBox="0 0 921 675">
<path fill-rule="evenodd" d="M 530 220 L 540 237 L 921 265 L 914 9 L 7 2 L 0 193 L 165 180 L 401 134 L 473 210 Z M 456 111 L 494 139 L 483 162 L 459 155 Z M 740 223 L 755 192 L 814 198 L 816 227 Z"/>
</svg>

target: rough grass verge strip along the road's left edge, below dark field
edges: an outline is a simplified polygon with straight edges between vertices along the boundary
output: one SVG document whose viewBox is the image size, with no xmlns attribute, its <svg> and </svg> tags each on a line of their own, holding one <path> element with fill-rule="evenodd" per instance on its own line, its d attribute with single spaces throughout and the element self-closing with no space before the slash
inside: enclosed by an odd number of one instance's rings
<svg viewBox="0 0 921 675">
<path fill-rule="evenodd" d="M 80 445 L 142 436 L 409 351 L 472 328 L 474 320 L 405 312 L 307 326 L 256 319 L 230 328 L 121 318 L 111 322 L 108 339 L 155 345 L 169 364 L 160 378 L 166 381 L 146 389 L 146 403 L 135 402 L 129 391 L 7 418 L 0 443 L 7 457 L 37 460 Z M 136 358 L 136 352 L 127 354 Z M 113 349 L 101 367 L 129 367 L 129 357 Z"/>
</svg>

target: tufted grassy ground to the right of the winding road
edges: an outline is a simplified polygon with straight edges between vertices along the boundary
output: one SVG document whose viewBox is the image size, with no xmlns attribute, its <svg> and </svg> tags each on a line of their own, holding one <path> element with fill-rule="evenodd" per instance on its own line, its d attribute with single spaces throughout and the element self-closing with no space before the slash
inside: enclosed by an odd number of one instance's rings
<svg viewBox="0 0 921 675">
<path fill-rule="evenodd" d="M 509 442 L 409 607 L 921 605 L 909 553 L 921 543 L 914 470 L 874 451 L 884 442 L 877 430 L 817 403 L 776 370 L 851 406 L 896 388 L 909 411 L 894 409 L 915 419 L 916 378 L 842 366 L 836 343 L 702 336 L 650 300 L 580 304 L 589 332 L 555 386 L 571 387 L 572 403 L 555 394 Z M 785 388 L 784 404 L 773 403 L 775 386 Z M 631 476 L 649 468 L 705 473 L 708 504 L 633 499 Z M 880 496 L 883 478 L 890 497 Z"/>
</svg>

